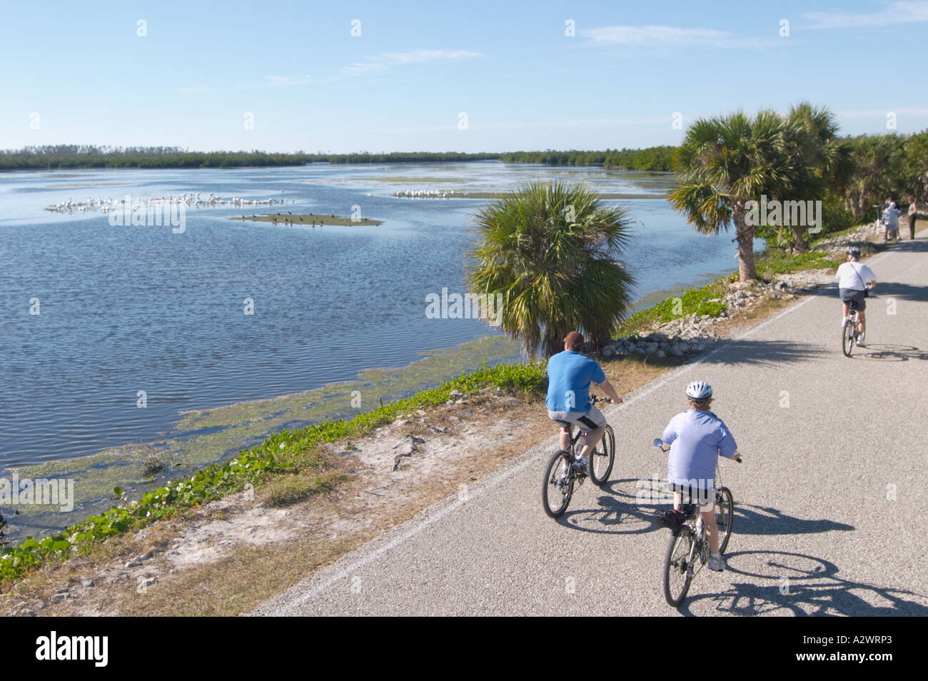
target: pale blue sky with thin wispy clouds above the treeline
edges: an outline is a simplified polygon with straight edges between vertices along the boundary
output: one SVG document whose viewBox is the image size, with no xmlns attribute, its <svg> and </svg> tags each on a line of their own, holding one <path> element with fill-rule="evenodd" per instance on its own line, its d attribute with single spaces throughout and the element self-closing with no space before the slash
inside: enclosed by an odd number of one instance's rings
<svg viewBox="0 0 928 681">
<path fill-rule="evenodd" d="M 804 99 L 829 106 L 845 134 L 886 132 L 889 112 L 897 132 L 928 127 L 928 1 L 5 0 L 0 11 L 0 148 L 639 148 L 677 144 L 675 113 L 685 129 Z"/>
</svg>

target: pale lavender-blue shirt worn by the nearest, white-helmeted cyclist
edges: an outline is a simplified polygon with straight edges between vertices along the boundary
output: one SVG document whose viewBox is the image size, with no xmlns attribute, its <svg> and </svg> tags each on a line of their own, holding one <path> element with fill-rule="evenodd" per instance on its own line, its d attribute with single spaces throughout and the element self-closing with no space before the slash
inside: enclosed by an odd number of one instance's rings
<svg viewBox="0 0 928 681">
<path fill-rule="evenodd" d="M 662 440 L 670 445 L 667 480 L 700 489 L 714 484 L 716 457 L 731 458 L 738 450 L 722 419 L 711 411 L 697 409 L 671 418 Z"/>
</svg>

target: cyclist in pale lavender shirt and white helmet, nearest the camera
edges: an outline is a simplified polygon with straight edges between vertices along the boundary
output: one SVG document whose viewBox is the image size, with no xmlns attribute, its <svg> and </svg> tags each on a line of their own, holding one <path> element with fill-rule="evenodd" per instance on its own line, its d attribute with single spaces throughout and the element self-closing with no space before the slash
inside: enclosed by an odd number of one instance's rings
<svg viewBox="0 0 928 681">
<path fill-rule="evenodd" d="M 667 482 L 674 491 L 676 513 L 683 497 L 699 503 L 702 524 L 709 539 L 709 569 L 725 570 L 725 559 L 718 552 L 718 525 L 715 522 L 715 464 L 719 456 L 741 461 L 738 444 L 728 426 L 709 411 L 712 386 L 696 380 L 687 386 L 688 411 L 670 419 L 663 440 L 670 445 Z M 677 521 L 685 520 L 677 518 Z"/>
</svg>

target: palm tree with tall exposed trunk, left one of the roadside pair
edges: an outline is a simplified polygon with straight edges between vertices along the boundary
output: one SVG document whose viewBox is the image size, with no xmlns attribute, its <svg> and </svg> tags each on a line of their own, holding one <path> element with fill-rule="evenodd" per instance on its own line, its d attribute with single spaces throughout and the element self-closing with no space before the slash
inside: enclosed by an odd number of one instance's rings
<svg viewBox="0 0 928 681">
<path fill-rule="evenodd" d="M 786 126 L 776 111 L 754 119 L 742 111 L 694 122 L 677 150 L 679 184 L 670 202 L 703 234 L 735 225 L 741 281 L 756 278 L 754 225 L 745 220 L 749 200 L 780 196 L 792 186 Z"/>
</svg>

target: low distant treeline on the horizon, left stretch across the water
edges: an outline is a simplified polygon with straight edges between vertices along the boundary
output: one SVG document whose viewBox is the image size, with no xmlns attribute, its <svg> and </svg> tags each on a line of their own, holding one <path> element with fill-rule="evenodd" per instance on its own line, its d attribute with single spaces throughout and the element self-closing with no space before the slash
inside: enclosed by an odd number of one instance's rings
<svg viewBox="0 0 928 681">
<path fill-rule="evenodd" d="M 397 151 L 389 154 L 277 154 L 265 151 L 187 151 L 177 147 L 92 147 L 56 145 L 0 150 L 0 170 L 68 168 L 244 168 L 329 163 L 484 161 L 499 154 L 454 151 Z"/>
</svg>

